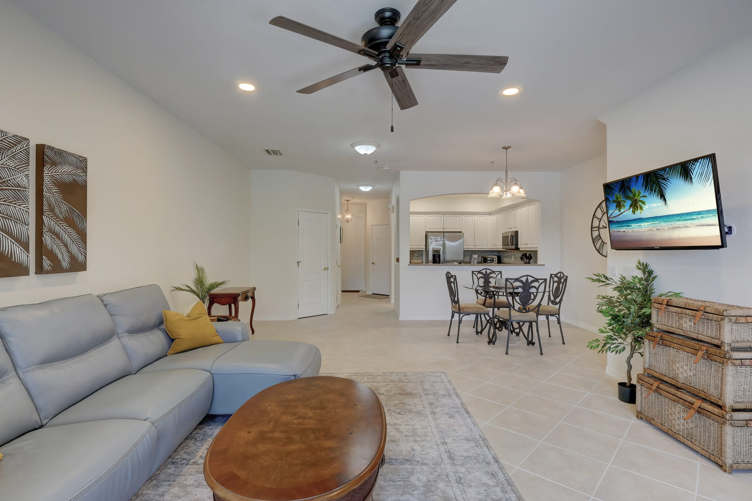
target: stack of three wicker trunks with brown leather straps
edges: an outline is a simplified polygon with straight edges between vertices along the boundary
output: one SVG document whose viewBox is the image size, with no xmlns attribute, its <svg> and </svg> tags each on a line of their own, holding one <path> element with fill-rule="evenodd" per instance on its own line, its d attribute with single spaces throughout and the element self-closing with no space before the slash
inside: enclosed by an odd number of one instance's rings
<svg viewBox="0 0 752 501">
<path fill-rule="evenodd" d="M 752 308 L 653 297 L 637 417 L 720 464 L 752 468 Z"/>
</svg>

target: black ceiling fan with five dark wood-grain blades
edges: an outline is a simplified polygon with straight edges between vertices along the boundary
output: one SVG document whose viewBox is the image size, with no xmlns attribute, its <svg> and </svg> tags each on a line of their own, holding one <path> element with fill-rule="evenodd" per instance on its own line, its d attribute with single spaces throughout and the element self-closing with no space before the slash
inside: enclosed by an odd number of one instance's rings
<svg viewBox="0 0 752 501">
<path fill-rule="evenodd" d="M 400 14 L 395 8 L 383 8 L 376 11 L 374 18 L 379 26 L 369 29 L 360 40 L 360 44 L 344 40 L 335 35 L 322 32 L 287 17 L 277 16 L 269 24 L 299 33 L 300 35 L 325 44 L 334 45 L 344 50 L 360 54 L 373 61 L 350 71 L 321 80 L 311 86 L 300 89 L 302 94 L 312 94 L 348 78 L 371 71 L 375 68 L 384 72 L 387 83 L 399 104 L 400 110 L 406 110 L 418 104 L 408 77 L 402 71 L 405 68 L 424 68 L 428 70 L 480 71 L 483 73 L 501 73 L 507 64 L 506 56 L 465 56 L 462 54 L 413 54 L 410 50 L 420 37 L 439 20 L 456 0 L 418 0 L 408 17 L 399 23 Z M 409 56 L 408 56 L 409 55 Z"/>
</svg>

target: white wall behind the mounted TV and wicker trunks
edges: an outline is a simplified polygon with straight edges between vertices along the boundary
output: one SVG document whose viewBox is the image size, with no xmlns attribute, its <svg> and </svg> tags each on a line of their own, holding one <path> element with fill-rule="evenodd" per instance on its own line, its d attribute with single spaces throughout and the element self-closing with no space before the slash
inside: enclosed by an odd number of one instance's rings
<svg viewBox="0 0 752 501">
<path fill-rule="evenodd" d="M 647 261 L 659 292 L 738 305 L 752 304 L 750 116 L 752 32 L 677 71 L 605 113 L 608 180 L 715 152 L 726 224 L 738 234 L 728 248 L 613 251 L 608 264 Z M 609 358 L 608 373 L 623 373 Z"/>
</svg>

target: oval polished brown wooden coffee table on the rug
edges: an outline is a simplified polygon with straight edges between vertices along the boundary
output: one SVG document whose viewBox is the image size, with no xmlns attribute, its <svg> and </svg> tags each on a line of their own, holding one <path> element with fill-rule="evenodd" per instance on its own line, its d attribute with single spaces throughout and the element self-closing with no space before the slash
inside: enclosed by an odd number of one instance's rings
<svg viewBox="0 0 752 501">
<path fill-rule="evenodd" d="M 250 398 L 214 437 L 204 478 L 217 501 L 365 501 L 387 442 L 376 394 L 352 379 L 293 379 Z"/>
</svg>

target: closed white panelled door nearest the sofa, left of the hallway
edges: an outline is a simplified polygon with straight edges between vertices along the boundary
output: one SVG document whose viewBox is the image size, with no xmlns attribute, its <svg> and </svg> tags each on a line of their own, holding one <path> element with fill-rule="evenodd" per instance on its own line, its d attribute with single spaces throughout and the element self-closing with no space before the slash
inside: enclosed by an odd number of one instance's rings
<svg viewBox="0 0 752 501">
<path fill-rule="evenodd" d="M 298 318 L 329 312 L 329 215 L 298 211 Z"/>
</svg>

